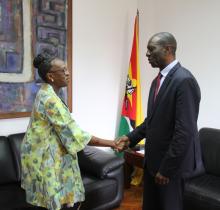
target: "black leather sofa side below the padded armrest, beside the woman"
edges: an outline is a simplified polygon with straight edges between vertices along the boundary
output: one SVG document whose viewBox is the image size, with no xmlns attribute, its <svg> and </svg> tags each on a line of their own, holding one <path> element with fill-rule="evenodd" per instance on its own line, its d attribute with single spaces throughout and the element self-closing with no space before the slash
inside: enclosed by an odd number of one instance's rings
<svg viewBox="0 0 220 210">
<path fill-rule="evenodd" d="M 85 201 L 82 203 L 81 210 L 96 209 L 97 206 L 103 206 L 102 209 L 109 209 L 109 203 L 117 196 L 117 181 L 115 179 L 98 179 L 94 176 L 82 174 L 85 187 Z M 108 204 L 108 207 L 105 207 Z M 87 208 L 86 208 L 87 207 Z"/>
</svg>

